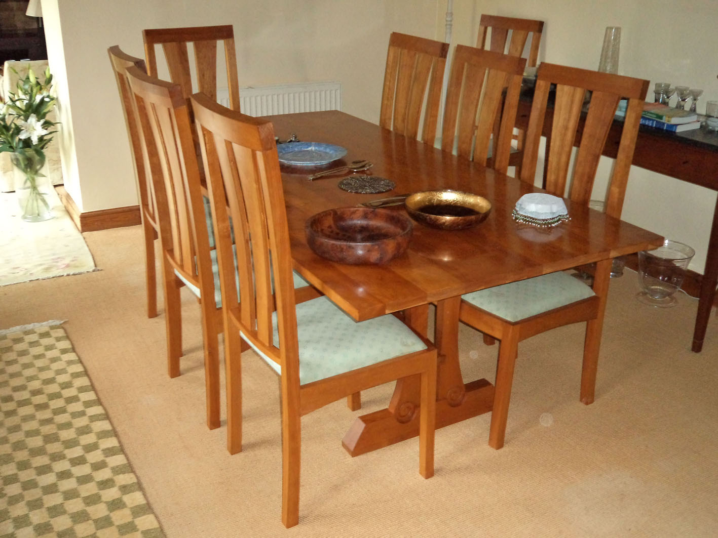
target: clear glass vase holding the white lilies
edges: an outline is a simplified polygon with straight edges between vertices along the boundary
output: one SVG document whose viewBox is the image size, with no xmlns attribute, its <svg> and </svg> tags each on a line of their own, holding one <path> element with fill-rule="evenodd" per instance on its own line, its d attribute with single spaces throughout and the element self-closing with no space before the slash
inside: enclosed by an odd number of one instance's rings
<svg viewBox="0 0 718 538">
<path fill-rule="evenodd" d="M 48 177 L 45 153 L 28 149 L 10 154 L 14 173 L 15 193 L 22 211 L 21 218 L 27 222 L 52 219 L 48 196 L 52 185 Z"/>
</svg>

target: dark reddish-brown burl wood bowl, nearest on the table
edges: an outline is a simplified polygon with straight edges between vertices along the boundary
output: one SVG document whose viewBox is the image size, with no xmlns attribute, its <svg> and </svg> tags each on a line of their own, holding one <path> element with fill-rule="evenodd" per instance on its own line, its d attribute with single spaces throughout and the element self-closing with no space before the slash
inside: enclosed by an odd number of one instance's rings
<svg viewBox="0 0 718 538">
<path fill-rule="evenodd" d="M 413 225 L 389 209 L 339 207 L 307 219 L 304 232 L 314 253 L 339 263 L 388 263 L 404 253 Z"/>
</svg>

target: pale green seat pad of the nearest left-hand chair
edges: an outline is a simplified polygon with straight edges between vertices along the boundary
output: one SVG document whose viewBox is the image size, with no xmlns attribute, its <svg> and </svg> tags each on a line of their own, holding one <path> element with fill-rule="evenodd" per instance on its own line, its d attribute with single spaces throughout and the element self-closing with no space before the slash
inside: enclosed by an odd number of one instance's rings
<svg viewBox="0 0 718 538">
<path fill-rule="evenodd" d="M 279 347 L 276 312 L 274 345 Z M 307 384 L 343 372 L 426 349 L 424 342 L 396 316 L 356 322 L 326 297 L 297 305 L 299 383 Z M 249 342 L 254 351 L 281 374 L 279 364 Z"/>
</svg>

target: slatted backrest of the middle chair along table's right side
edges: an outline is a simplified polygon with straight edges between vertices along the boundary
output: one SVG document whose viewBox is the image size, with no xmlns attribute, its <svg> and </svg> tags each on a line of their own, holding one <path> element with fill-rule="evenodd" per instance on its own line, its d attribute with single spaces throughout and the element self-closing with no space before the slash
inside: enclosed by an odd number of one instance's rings
<svg viewBox="0 0 718 538">
<path fill-rule="evenodd" d="M 457 146 L 460 156 L 485 165 L 493 146 L 493 168 L 505 174 L 525 66 L 525 58 L 457 45 L 444 107 L 444 151 Z"/>
</svg>

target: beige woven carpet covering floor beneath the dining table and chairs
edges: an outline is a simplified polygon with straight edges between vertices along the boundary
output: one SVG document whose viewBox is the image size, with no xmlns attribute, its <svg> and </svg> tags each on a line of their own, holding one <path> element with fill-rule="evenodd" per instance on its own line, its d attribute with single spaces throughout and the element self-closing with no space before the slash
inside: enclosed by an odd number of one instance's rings
<svg viewBox="0 0 718 538">
<path fill-rule="evenodd" d="M 696 301 L 638 303 L 612 280 L 597 400 L 578 401 L 582 326 L 519 348 L 506 445 L 489 416 L 437 432 L 436 476 L 414 440 L 350 458 L 359 412 L 337 402 L 303 420 L 300 522 L 280 522 L 274 374 L 243 362 L 244 451 L 205 426 L 199 308 L 185 295 L 182 376 L 165 367 L 164 317 L 144 317 L 139 227 L 85 234 L 102 271 L 0 288 L 0 328 L 64 318 L 147 499 L 169 537 L 714 537 L 718 534 L 718 321 L 689 351 Z M 461 332 L 465 379 L 493 379 L 495 347 Z M 365 392 L 386 405 L 391 387 Z"/>
</svg>

